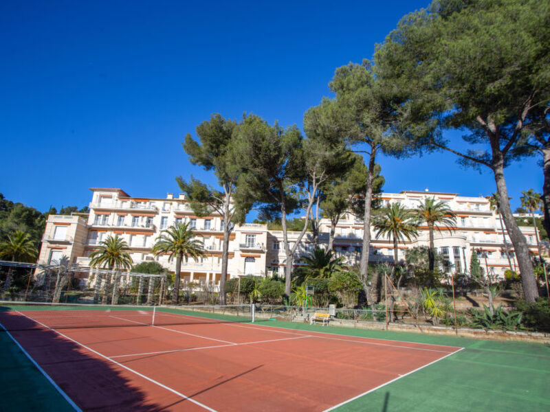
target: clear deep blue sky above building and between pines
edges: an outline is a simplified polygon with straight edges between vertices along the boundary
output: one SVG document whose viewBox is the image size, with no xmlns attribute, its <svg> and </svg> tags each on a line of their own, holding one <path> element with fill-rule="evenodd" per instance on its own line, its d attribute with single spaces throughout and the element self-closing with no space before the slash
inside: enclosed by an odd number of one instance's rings
<svg viewBox="0 0 550 412">
<path fill-rule="evenodd" d="M 181 141 L 210 113 L 287 126 L 329 95 L 336 67 L 370 58 L 399 18 L 428 1 L 2 1 L 0 192 L 47 210 L 87 205 L 88 187 L 178 192 L 214 183 Z M 455 133 L 452 137 L 457 137 Z M 382 157 L 386 192 L 495 191 L 452 155 Z M 541 192 L 538 159 L 506 172 L 512 207 Z"/>
</svg>

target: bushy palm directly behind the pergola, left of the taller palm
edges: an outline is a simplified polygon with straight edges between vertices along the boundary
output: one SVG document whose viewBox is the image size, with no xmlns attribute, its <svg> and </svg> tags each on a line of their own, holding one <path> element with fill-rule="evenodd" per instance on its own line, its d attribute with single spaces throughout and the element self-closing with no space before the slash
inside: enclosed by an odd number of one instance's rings
<svg viewBox="0 0 550 412">
<path fill-rule="evenodd" d="M 120 269 L 129 269 L 132 267 L 132 258 L 130 253 L 128 253 L 129 248 L 126 240 L 120 238 L 116 235 L 107 236 L 107 239 L 100 243 L 100 247 L 91 253 L 89 256 L 90 266 L 92 268 L 107 268 L 109 271 L 120 270 Z M 105 278 L 105 287 L 104 290 L 108 290 L 111 283 L 111 273 Z M 101 277 L 98 275 L 98 280 L 96 283 L 96 290 L 99 290 L 101 285 Z M 115 277 L 115 287 L 113 289 L 113 297 L 111 299 L 111 304 L 116 304 L 118 301 L 118 278 Z M 102 303 L 107 303 L 108 293 L 104 293 L 102 297 Z"/>
</svg>

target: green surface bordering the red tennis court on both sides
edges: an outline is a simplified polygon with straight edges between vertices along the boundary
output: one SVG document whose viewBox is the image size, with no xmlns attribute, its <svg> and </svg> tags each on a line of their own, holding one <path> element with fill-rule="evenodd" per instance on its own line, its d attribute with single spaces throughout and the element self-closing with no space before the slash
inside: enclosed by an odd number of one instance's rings
<svg viewBox="0 0 550 412">
<path fill-rule="evenodd" d="M 333 328 L 285 321 L 260 321 L 258 324 L 465 348 L 344 404 L 337 411 L 550 411 L 549 345 Z M 2 409 L 71 410 L 6 335 L 0 332 L 0 343 L 4 348 L 0 352 Z M 338 380 L 338 376 L 333 378 Z M 307 371 L 304 379 L 307 379 Z"/>
</svg>

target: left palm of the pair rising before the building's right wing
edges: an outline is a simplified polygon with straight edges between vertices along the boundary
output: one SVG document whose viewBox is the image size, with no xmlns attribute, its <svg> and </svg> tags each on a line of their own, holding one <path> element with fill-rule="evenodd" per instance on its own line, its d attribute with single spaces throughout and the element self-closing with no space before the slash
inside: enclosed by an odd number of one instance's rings
<svg viewBox="0 0 550 412">
<path fill-rule="evenodd" d="M 412 211 L 401 206 L 401 203 L 393 203 L 380 210 L 374 218 L 376 238 L 387 236 L 393 240 L 393 262 L 397 266 L 397 243 L 404 240 L 412 240 L 418 237 L 417 220 Z"/>
</svg>

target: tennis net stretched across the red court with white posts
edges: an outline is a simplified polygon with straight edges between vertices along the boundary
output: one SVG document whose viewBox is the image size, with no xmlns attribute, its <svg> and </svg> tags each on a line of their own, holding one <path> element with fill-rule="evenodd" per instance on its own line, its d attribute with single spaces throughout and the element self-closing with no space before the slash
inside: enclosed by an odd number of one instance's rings
<svg viewBox="0 0 550 412">
<path fill-rule="evenodd" d="M 113 328 L 254 321 L 251 305 L 119 306 L 0 302 L 7 330 Z"/>
</svg>

